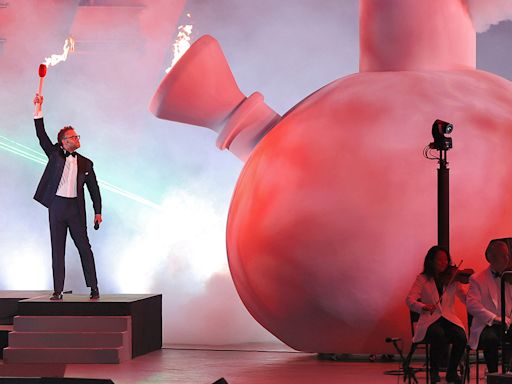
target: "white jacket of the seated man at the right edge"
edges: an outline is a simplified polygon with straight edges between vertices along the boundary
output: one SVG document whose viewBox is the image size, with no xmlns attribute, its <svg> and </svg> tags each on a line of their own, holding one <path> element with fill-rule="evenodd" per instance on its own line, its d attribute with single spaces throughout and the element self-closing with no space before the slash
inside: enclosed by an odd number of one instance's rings
<svg viewBox="0 0 512 384">
<path fill-rule="evenodd" d="M 508 283 L 505 284 L 505 298 L 505 321 L 507 326 L 510 326 L 512 285 Z M 492 325 L 494 318 L 501 316 L 500 279 L 492 275 L 490 267 L 470 277 L 466 305 L 468 313 L 473 316 L 468 344 L 472 349 L 476 349 L 485 326 Z"/>
</svg>

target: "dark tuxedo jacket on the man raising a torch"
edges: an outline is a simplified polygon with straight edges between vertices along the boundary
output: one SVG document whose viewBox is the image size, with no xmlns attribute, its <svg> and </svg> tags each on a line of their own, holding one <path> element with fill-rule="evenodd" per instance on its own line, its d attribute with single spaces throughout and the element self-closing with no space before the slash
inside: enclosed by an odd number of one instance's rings
<svg viewBox="0 0 512 384">
<path fill-rule="evenodd" d="M 50 138 L 44 129 L 44 121 L 42 118 L 34 119 L 36 126 L 36 134 L 39 139 L 39 144 L 43 148 L 44 153 L 48 156 L 48 164 L 44 170 L 43 176 L 37 186 L 34 199 L 43 204 L 45 207 L 50 207 L 55 193 L 59 187 L 59 182 L 66 163 L 64 151 L 59 144 L 52 144 Z M 85 199 L 84 199 L 84 184 L 87 185 L 89 194 L 91 195 L 94 213 L 101 214 L 101 195 L 94 173 L 93 163 L 87 157 L 77 153 L 77 198 L 80 214 L 85 222 Z"/>
</svg>

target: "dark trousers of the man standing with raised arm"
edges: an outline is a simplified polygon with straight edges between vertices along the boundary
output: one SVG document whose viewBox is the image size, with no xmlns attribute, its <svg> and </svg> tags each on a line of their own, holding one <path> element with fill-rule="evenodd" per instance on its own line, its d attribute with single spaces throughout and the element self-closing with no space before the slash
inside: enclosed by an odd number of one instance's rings
<svg viewBox="0 0 512 384">
<path fill-rule="evenodd" d="M 96 266 L 92 253 L 85 218 L 80 215 L 78 200 L 55 196 L 49 208 L 50 236 L 52 243 L 53 289 L 64 290 L 66 237 L 69 229 L 71 238 L 80 254 L 85 283 L 88 287 L 97 287 Z"/>
</svg>

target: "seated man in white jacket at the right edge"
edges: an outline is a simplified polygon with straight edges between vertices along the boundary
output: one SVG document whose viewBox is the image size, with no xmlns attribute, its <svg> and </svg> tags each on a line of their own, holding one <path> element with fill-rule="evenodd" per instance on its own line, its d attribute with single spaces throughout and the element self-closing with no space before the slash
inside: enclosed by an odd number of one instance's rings
<svg viewBox="0 0 512 384">
<path fill-rule="evenodd" d="M 501 341 L 501 324 L 510 327 L 512 314 L 512 285 L 505 285 L 505 318 L 501 317 L 501 274 L 510 262 L 510 250 L 503 240 L 492 240 L 485 258 L 489 266 L 469 279 L 466 298 L 468 313 L 473 316 L 469 346 L 483 349 L 489 373 L 498 371 L 498 347 Z M 510 333 L 506 336 L 510 341 Z M 507 352 L 507 351 L 506 351 Z M 508 363 L 510 353 L 505 353 Z"/>
</svg>

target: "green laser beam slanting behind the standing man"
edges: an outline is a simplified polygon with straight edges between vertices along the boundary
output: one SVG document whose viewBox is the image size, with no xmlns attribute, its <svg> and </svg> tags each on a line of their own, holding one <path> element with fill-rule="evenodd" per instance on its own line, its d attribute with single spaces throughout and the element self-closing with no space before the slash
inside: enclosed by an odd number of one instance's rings
<svg viewBox="0 0 512 384">
<path fill-rule="evenodd" d="M 45 156 L 41 155 L 40 152 L 37 152 L 32 148 L 29 148 L 23 144 L 20 144 L 2 135 L 0 135 L 0 149 L 3 149 L 7 152 L 31 160 L 41 165 L 46 165 L 46 163 L 48 162 L 48 159 Z M 120 196 L 126 197 L 127 199 L 130 199 L 147 207 L 153 209 L 161 208 L 160 205 L 158 205 L 157 203 L 154 203 L 142 196 L 139 196 L 135 193 L 117 187 L 106 180 L 98 179 L 98 184 L 107 191 L 116 193 Z"/>
</svg>

